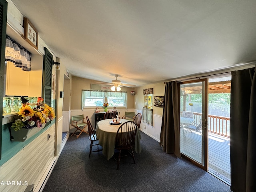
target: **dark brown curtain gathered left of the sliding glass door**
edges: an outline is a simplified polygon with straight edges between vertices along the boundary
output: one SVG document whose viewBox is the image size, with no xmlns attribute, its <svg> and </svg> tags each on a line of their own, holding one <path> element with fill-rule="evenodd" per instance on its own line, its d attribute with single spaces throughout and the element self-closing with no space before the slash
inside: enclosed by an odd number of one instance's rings
<svg viewBox="0 0 256 192">
<path fill-rule="evenodd" d="M 160 146 L 166 153 L 180 158 L 180 124 L 178 84 L 167 82 L 164 92 L 164 109 L 160 134 Z"/>
</svg>

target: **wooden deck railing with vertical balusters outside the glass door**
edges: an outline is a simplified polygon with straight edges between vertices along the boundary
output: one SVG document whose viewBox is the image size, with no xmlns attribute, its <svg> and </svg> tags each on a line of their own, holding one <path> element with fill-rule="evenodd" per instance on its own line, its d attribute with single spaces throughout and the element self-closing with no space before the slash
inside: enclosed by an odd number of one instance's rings
<svg viewBox="0 0 256 192">
<path fill-rule="evenodd" d="M 194 123 L 199 124 L 201 113 L 193 112 Z M 208 132 L 230 137 L 230 118 L 216 115 L 208 115 Z"/>
</svg>

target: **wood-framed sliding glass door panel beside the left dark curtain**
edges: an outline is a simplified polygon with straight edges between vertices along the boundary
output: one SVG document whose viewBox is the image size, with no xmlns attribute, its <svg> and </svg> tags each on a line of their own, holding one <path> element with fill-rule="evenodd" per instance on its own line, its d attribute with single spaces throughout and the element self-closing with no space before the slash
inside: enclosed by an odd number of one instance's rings
<svg viewBox="0 0 256 192">
<path fill-rule="evenodd" d="M 207 169 L 207 79 L 179 83 L 180 152 Z M 207 170 L 206 170 L 207 171 Z"/>
</svg>

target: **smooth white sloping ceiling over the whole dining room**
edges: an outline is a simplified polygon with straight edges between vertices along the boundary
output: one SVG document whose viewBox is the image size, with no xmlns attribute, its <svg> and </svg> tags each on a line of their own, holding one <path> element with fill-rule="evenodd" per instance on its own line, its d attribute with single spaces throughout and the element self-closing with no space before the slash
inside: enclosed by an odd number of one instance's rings
<svg viewBox="0 0 256 192">
<path fill-rule="evenodd" d="M 140 86 L 256 60 L 256 0 L 12 0 L 70 74 Z"/>
</svg>

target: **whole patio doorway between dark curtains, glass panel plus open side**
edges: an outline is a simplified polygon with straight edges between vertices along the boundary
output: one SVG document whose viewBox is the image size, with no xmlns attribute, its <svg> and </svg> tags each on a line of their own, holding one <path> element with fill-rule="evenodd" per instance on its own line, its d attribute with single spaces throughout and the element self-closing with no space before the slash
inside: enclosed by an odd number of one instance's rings
<svg viewBox="0 0 256 192">
<path fill-rule="evenodd" d="M 187 81 L 180 88 L 180 152 L 230 185 L 231 74 Z"/>
</svg>

